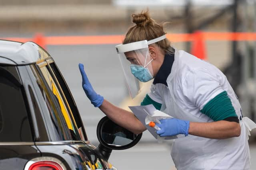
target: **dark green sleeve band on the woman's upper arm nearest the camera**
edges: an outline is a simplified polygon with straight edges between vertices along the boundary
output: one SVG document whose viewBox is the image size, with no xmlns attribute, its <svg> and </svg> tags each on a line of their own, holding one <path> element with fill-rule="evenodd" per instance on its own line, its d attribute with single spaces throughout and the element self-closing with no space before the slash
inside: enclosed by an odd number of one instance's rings
<svg viewBox="0 0 256 170">
<path fill-rule="evenodd" d="M 214 121 L 224 120 L 227 117 L 237 117 L 236 111 L 226 91 L 221 92 L 210 100 L 201 112 Z"/>
</svg>

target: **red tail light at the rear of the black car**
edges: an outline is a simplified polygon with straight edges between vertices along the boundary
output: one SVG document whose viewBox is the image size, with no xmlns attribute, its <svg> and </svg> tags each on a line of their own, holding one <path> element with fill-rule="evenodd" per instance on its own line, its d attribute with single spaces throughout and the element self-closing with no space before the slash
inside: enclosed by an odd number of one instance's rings
<svg viewBox="0 0 256 170">
<path fill-rule="evenodd" d="M 63 170 L 61 166 L 52 161 L 40 161 L 32 164 L 28 170 Z"/>
</svg>

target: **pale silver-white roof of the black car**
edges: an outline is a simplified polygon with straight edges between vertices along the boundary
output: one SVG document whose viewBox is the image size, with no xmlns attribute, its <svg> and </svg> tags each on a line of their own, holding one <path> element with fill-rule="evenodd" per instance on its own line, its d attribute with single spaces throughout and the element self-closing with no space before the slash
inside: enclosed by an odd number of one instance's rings
<svg viewBox="0 0 256 170">
<path fill-rule="evenodd" d="M 47 57 L 50 55 L 36 43 L 0 40 L 0 64 L 31 64 Z"/>
</svg>

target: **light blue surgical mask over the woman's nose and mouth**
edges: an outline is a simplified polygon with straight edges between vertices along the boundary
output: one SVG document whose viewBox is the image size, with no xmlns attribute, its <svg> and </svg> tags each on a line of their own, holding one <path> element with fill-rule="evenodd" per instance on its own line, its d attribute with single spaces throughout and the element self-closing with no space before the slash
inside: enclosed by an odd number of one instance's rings
<svg viewBox="0 0 256 170">
<path fill-rule="evenodd" d="M 149 80 L 153 79 L 153 76 L 151 75 L 148 68 L 144 68 L 143 66 L 137 64 L 131 64 L 130 68 L 132 74 L 141 82 L 148 82 Z"/>
</svg>

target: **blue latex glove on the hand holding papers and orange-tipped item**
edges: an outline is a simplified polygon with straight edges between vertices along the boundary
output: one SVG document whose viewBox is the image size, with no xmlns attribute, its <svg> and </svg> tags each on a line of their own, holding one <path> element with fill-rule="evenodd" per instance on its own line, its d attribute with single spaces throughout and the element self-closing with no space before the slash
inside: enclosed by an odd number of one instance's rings
<svg viewBox="0 0 256 170">
<path fill-rule="evenodd" d="M 180 119 L 162 119 L 161 124 L 157 124 L 160 127 L 159 131 L 156 131 L 160 137 L 164 136 L 174 136 L 179 134 L 184 134 L 188 136 L 189 121 L 184 121 Z"/>
</svg>

